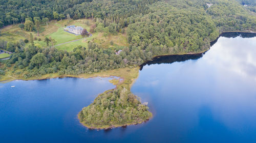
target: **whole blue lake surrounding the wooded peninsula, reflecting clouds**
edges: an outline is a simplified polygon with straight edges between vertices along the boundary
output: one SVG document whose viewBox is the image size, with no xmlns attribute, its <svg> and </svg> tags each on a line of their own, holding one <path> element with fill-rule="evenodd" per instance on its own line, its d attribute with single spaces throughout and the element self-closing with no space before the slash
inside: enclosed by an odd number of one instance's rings
<svg viewBox="0 0 256 143">
<path fill-rule="evenodd" d="M 0 142 L 255 142 L 256 37 L 238 35 L 146 63 L 132 92 L 154 118 L 126 128 L 89 130 L 76 117 L 114 88 L 109 78 L 0 84 Z"/>
</svg>

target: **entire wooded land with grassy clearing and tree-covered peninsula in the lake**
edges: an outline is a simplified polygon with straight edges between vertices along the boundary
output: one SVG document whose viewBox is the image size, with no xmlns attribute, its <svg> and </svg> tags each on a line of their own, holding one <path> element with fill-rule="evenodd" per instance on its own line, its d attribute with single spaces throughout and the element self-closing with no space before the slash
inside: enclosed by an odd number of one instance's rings
<svg viewBox="0 0 256 143">
<path fill-rule="evenodd" d="M 116 89 L 100 94 L 79 112 L 80 122 L 94 129 L 152 117 L 130 91 L 144 62 L 161 55 L 203 53 L 223 32 L 256 31 L 254 1 L 246 1 L 246 7 L 242 0 L 26 3 L 1 3 L 0 50 L 12 54 L 0 59 L 0 81 L 123 78 L 115 81 Z M 81 26 L 84 35 L 68 33 L 67 25 Z"/>
</svg>

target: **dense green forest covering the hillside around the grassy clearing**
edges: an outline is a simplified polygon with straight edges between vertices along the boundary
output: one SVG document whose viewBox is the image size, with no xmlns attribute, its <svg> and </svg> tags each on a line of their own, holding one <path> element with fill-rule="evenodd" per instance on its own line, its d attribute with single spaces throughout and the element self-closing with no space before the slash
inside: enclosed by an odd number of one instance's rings
<svg viewBox="0 0 256 143">
<path fill-rule="evenodd" d="M 248 1 L 249 2 L 249 1 Z M 26 31 L 39 33 L 45 18 L 90 18 L 91 32 L 104 36 L 124 33 L 129 46 L 120 54 L 89 42 L 72 52 L 51 45 L 36 47 L 27 41 L 4 41 L 0 48 L 14 52 L 1 66 L 18 77 L 49 73 L 82 74 L 138 66 L 156 55 L 202 52 L 225 31 L 255 31 L 256 17 L 236 0 L 94 0 L 94 1 L 2 1 L 2 26 L 25 22 Z M 21 26 L 21 28 L 23 28 Z M 49 39 L 48 39 L 49 40 Z M 49 41 L 48 41 L 49 42 Z"/>
</svg>

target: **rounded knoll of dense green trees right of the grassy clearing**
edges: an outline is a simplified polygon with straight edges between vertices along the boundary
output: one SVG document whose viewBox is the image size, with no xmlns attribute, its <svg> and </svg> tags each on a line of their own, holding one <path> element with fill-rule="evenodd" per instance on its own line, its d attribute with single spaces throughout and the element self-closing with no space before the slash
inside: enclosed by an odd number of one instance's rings
<svg viewBox="0 0 256 143">
<path fill-rule="evenodd" d="M 205 15 L 178 10 L 164 3 L 153 8 L 156 12 L 128 26 L 127 36 L 131 44 L 142 49 L 153 45 L 172 51 L 196 52 L 206 49 L 209 41 L 218 36 L 214 22 Z"/>
</svg>

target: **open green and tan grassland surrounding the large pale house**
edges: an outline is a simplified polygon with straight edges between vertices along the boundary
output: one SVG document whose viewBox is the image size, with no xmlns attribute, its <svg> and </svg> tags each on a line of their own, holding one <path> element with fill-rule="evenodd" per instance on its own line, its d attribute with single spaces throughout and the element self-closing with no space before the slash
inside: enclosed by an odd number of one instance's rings
<svg viewBox="0 0 256 143">
<path fill-rule="evenodd" d="M 59 46 L 55 46 L 58 49 L 61 50 L 67 50 L 72 51 L 75 47 L 78 45 L 87 46 L 88 41 L 93 41 L 99 45 L 101 45 L 103 48 L 115 48 L 120 49 L 124 46 L 128 46 L 126 34 L 118 33 L 116 35 L 109 35 L 109 36 L 103 36 L 103 33 L 92 33 L 92 36 L 89 38 L 86 38 L 86 40 L 79 40 L 74 41 L 70 43 L 66 43 L 73 40 L 81 39 L 82 37 L 80 35 L 74 35 L 68 32 L 64 31 L 64 28 L 67 25 L 76 25 L 76 26 L 82 26 L 83 28 L 86 28 L 88 31 L 90 31 L 91 24 L 94 24 L 94 21 L 91 19 L 78 19 L 78 20 L 52 20 L 49 22 L 48 25 L 41 25 L 39 36 L 37 36 L 36 32 L 26 32 L 24 30 L 21 30 L 18 25 L 9 25 L 6 26 L 1 30 L 2 35 L 0 35 L 0 39 L 3 39 L 5 41 L 18 41 L 20 39 L 29 40 L 29 35 L 32 33 L 33 37 L 37 40 L 34 40 L 34 43 L 40 44 L 42 47 L 47 47 L 47 44 L 44 42 L 45 37 L 53 38 L 56 43 L 54 45 L 58 45 L 61 43 L 65 43 Z M 40 38 L 40 40 L 38 40 Z M 111 41 L 114 43 L 111 45 Z M 26 44 L 26 47 L 29 46 L 30 43 Z M 52 43 L 49 43 L 51 45 Z"/>
</svg>

